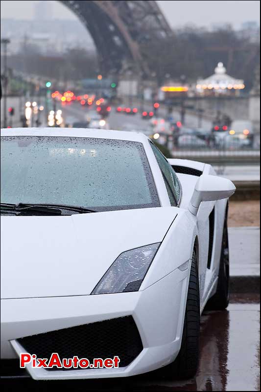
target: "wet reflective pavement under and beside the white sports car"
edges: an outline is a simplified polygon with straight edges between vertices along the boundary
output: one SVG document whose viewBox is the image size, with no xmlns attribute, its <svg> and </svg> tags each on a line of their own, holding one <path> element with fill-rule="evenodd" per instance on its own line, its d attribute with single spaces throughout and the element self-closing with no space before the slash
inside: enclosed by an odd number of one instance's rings
<svg viewBox="0 0 261 392">
<path fill-rule="evenodd" d="M 255 294 L 233 294 L 224 312 L 205 312 L 197 375 L 170 381 L 157 373 L 82 381 L 2 380 L 4 391 L 260 391 L 260 305 Z"/>
</svg>

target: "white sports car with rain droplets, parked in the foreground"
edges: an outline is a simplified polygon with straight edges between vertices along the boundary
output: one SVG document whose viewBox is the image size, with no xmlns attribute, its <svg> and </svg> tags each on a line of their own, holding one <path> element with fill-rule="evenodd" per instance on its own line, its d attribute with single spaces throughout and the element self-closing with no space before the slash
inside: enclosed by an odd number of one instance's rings
<svg viewBox="0 0 261 392">
<path fill-rule="evenodd" d="M 1 368 L 36 380 L 193 376 L 200 314 L 229 301 L 234 192 L 142 133 L 3 129 Z M 61 368 L 53 353 L 83 361 Z"/>
</svg>

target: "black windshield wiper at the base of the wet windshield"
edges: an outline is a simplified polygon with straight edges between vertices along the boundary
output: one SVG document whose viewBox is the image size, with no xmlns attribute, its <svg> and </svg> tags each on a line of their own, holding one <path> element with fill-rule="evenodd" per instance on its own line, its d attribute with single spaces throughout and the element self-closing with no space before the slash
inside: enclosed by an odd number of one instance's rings
<svg viewBox="0 0 261 392">
<path fill-rule="evenodd" d="M 38 204 L 30 204 L 30 203 L 1 203 L 1 208 L 5 210 L 12 210 L 17 212 L 25 212 L 27 210 L 33 211 L 41 211 L 41 212 L 51 212 L 61 214 L 62 210 L 74 211 L 78 214 L 85 214 L 88 212 L 98 212 L 95 210 L 91 210 L 90 208 L 85 208 L 77 205 L 67 205 L 67 204 L 47 204 L 47 203 L 38 203 Z"/>
</svg>

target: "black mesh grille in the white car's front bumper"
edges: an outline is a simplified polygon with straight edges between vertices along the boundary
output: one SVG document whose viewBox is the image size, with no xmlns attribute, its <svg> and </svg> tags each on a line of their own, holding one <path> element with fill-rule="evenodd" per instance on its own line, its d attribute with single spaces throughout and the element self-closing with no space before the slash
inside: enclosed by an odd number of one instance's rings
<svg viewBox="0 0 261 392">
<path fill-rule="evenodd" d="M 27 336 L 18 342 L 26 352 L 38 358 L 50 358 L 53 352 L 57 352 L 60 359 L 78 356 L 89 361 L 118 356 L 119 367 L 129 365 L 143 349 L 131 316 Z"/>
</svg>

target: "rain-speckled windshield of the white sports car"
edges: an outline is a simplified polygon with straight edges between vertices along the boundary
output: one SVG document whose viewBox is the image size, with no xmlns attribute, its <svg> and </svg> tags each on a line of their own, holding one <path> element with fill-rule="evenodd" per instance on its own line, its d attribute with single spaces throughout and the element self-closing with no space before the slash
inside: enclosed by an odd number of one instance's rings
<svg viewBox="0 0 261 392">
<path fill-rule="evenodd" d="M 142 143 L 61 136 L 1 137 L 1 202 L 160 206 Z"/>
</svg>

